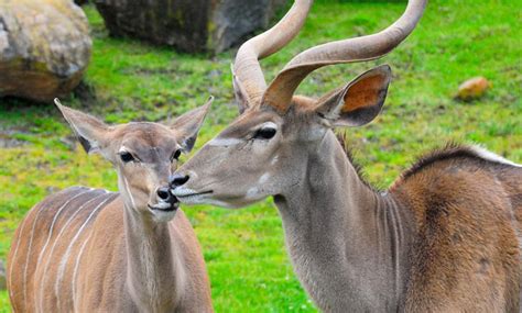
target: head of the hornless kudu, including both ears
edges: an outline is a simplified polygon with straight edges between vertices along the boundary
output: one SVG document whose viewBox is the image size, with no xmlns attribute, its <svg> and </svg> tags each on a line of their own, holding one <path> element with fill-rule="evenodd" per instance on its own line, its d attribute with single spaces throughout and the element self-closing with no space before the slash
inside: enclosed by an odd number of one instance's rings
<svg viewBox="0 0 522 313">
<path fill-rule="evenodd" d="M 196 142 L 211 98 L 170 124 L 149 122 L 107 125 L 98 119 L 62 105 L 56 107 L 87 153 L 100 153 L 118 172 L 118 187 L 127 206 L 156 222 L 175 215 L 178 201 L 165 188 L 182 153 Z"/>
</svg>

